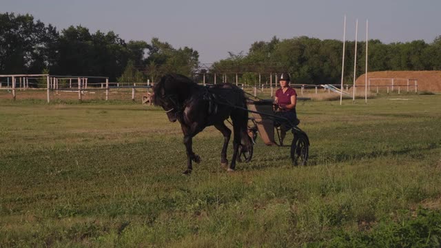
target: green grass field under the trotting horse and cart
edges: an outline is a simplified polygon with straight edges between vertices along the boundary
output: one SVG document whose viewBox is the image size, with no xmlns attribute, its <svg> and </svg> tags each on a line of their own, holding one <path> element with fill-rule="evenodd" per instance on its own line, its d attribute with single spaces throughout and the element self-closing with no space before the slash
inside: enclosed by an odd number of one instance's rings
<svg viewBox="0 0 441 248">
<path fill-rule="evenodd" d="M 439 247 L 441 96 L 301 101 L 309 165 L 121 102 L 0 99 L 0 247 Z M 230 145 L 229 156 L 232 154 Z"/>
</svg>

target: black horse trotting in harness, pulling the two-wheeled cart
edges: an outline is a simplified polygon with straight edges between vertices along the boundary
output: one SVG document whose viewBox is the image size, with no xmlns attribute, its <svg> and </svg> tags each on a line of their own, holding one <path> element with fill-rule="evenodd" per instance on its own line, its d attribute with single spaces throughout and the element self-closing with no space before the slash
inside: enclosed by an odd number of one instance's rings
<svg viewBox="0 0 441 248">
<path fill-rule="evenodd" d="M 184 174 L 192 172 L 192 161 L 201 162 L 201 158 L 193 152 L 192 138 L 210 125 L 214 125 L 224 136 L 220 164 L 227 167 L 227 147 L 232 131 L 224 121 L 229 117 L 232 119 L 234 130 L 234 152 L 227 170 L 234 171 L 239 146 L 242 151 L 252 147 L 247 134 L 248 112 L 245 94 L 235 85 L 223 83 L 202 86 L 186 76 L 167 74 L 154 85 L 153 99 L 155 105 L 163 107 L 171 122 L 177 120 L 181 123 L 187 149 L 187 169 Z"/>
</svg>

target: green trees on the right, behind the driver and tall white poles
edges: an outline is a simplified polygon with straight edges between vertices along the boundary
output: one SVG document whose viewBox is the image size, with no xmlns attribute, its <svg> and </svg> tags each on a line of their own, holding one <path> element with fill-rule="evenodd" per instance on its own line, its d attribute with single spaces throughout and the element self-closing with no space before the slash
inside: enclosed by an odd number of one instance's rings
<svg viewBox="0 0 441 248">
<path fill-rule="evenodd" d="M 342 41 L 309 37 L 294 37 L 271 41 L 257 41 L 247 54 L 229 53 L 227 59 L 214 63 L 213 68 L 225 72 L 231 68 L 243 68 L 245 81 L 256 82 L 258 73 L 265 73 L 263 79 L 269 81 L 268 72 L 285 71 L 291 81 L 305 84 L 339 83 L 342 70 Z M 346 82 L 353 81 L 353 61 L 355 41 L 345 45 Z M 366 42 L 357 43 L 356 75 L 365 73 Z M 407 43 L 384 44 L 378 39 L 368 42 L 368 71 L 384 70 L 441 70 L 441 36 L 432 43 L 422 40 Z M 265 82 L 264 81 L 264 82 Z"/>
</svg>

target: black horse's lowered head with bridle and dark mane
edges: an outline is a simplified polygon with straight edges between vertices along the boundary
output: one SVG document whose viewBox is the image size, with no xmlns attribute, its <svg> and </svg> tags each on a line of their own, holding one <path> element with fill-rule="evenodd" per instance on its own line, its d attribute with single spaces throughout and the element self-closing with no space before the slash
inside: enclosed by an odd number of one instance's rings
<svg viewBox="0 0 441 248">
<path fill-rule="evenodd" d="M 153 87 L 154 105 L 161 106 L 169 121 L 175 122 L 183 111 L 184 101 L 189 97 L 190 87 L 196 85 L 191 79 L 178 74 L 167 74 Z"/>
</svg>

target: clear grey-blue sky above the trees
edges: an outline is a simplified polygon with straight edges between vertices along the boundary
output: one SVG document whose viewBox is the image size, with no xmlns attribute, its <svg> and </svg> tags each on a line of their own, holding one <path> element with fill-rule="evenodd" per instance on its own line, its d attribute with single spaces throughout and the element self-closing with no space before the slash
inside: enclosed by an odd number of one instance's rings
<svg viewBox="0 0 441 248">
<path fill-rule="evenodd" d="M 0 0 L 0 12 L 32 14 L 61 31 L 81 25 L 91 33 L 114 31 L 126 42 L 157 37 L 174 48 L 199 52 L 201 63 L 247 54 L 252 43 L 307 36 L 369 39 L 382 43 L 441 35 L 441 0 Z"/>
</svg>

